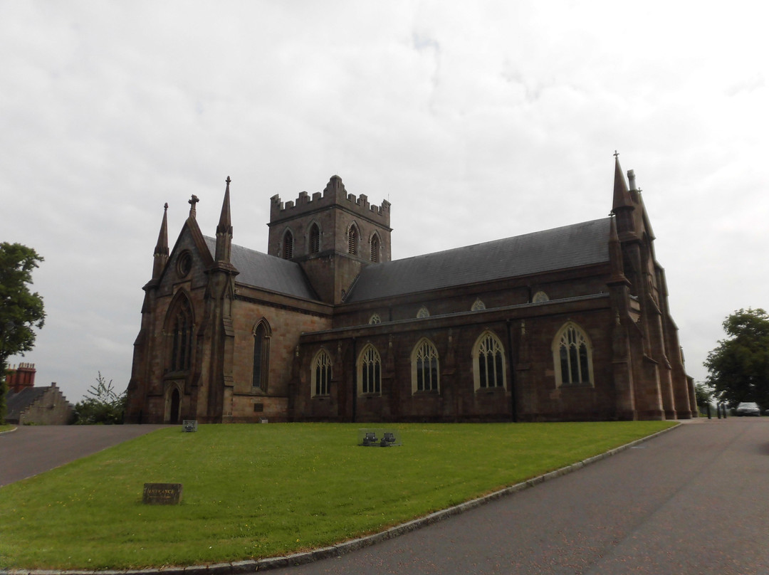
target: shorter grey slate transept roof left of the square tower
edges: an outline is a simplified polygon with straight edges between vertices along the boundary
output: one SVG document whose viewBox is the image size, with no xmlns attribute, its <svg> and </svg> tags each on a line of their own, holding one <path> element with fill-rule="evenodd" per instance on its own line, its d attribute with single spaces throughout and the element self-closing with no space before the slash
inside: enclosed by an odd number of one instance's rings
<svg viewBox="0 0 769 575">
<path fill-rule="evenodd" d="M 204 236 L 211 257 L 216 254 L 216 238 Z M 238 268 L 240 274 L 235 278 L 238 284 L 276 291 L 308 300 L 317 300 L 318 294 L 312 289 L 310 282 L 299 264 L 275 258 L 261 251 L 249 250 L 232 244 L 230 251 L 231 264 Z"/>
</svg>

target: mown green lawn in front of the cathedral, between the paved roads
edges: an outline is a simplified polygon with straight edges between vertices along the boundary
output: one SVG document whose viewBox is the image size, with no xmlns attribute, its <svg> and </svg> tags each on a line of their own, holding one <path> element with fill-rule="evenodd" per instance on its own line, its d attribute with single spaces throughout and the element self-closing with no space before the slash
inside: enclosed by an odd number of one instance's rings
<svg viewBox="0 0 769 575">
<path fill-rule="evenodd" d="M 360 537 L 599 454 L 671 424 L 360 424 L 158 430 L 0 488 L 0 567 L 125 569 L 292 553 Z M 145 482 L 184 484 L 177 506 Z"/>
</svg>

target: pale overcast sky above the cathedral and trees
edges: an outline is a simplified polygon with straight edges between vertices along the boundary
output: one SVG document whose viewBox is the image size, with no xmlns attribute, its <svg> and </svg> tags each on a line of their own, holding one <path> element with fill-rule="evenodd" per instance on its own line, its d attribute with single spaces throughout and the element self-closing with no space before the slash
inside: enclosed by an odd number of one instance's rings
<svg viewBox="0 0 769 575">
<path fill-rule="evenodd" d="M 163 204 L 267 251 L 270 200 L 391 201 L 393 259 L 588 221 L 634 169 L 696 381 L 769 307 L 760 2 L 0 0 L 0 241 L 45 262 L 37 367 L 131 374 Z"/>
</svg>

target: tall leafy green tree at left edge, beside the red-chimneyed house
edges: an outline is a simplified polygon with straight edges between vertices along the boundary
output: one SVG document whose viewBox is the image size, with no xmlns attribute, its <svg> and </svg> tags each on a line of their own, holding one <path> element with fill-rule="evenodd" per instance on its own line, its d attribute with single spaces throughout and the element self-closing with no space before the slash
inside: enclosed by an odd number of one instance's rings
<svg viewBox="0 0 769 575">
<path fill-rule="evenodd" d="M 8 357 L 24 354 L 43 327 L 43 298 L 29 291 L 32 270 L 43 258 L 22 244 L 0 243 L 0 423 L 5 418 L 5 368 Z"/>
</svg>

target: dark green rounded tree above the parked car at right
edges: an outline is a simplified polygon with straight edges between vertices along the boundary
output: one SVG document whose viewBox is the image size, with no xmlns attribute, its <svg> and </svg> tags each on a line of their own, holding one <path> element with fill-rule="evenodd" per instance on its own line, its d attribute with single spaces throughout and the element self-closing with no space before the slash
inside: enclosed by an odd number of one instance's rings
<svg viewBox="0 0 769 575">
<path fill-rule="evenodd" d="M 769 315 L 738 310 L 724 320 L 727 339 L 707 354 L 707 384 L 732 407 L 741 401 L 769 406 Z"/>
</svg>

